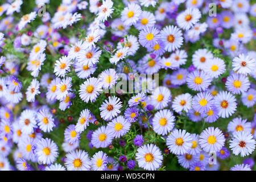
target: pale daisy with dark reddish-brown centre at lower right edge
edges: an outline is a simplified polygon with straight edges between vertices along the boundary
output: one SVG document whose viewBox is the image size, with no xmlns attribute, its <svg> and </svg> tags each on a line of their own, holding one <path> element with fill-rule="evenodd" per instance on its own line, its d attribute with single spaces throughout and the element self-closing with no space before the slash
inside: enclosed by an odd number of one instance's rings
<svg viewBox="0 0 256 182">
<path fill-rule="evenodd" d="M 234 155 L 240 154 L 241 157 L 250 155 L 255 149 L 255 139 L 253 135 L 246 131 L 239 131 L 234 133 L 232 140 L 230 140 L 229 147 Z"/>
</svg>

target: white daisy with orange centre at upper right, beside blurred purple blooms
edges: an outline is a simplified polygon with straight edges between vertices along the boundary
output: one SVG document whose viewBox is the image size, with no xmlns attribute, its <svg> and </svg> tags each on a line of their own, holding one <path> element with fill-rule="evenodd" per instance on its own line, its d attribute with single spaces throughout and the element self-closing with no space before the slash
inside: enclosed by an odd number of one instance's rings
<svg viewBox="0 0 256 182">
<path fill-rule="evenodd" d="M 201 12 L 197 8 L 188 8 L 180 13 L 177 18 L 177 25 L 183 30 L 188 30 L 195 25 L 201 18 Z"/>
</svg>

